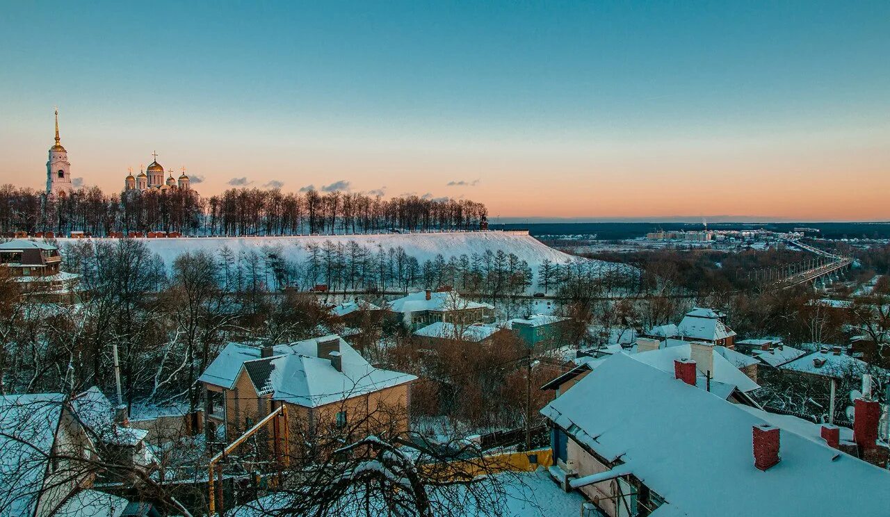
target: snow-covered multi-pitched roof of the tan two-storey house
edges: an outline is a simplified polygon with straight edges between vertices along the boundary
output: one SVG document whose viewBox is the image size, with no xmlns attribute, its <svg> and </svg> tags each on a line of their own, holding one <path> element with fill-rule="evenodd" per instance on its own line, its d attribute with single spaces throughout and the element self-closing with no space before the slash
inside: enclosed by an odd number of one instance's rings
<svg viewBox="0 0 890 517">
<path fill-rule="evenodd" d="M 319 343 L 331 340 L 339 341 L 342 371 L 334 368 L 330 359 L 318 356 Z M 374 368 L 339 335 L 278 344 L 271 357 L 260 356 L 258 347 L 229 343 L 198 381 L 231 389 L 246 369 L 258 392 L 271 393 L 273 400 L 314 408 L 417 379 Z"/>
</svg>

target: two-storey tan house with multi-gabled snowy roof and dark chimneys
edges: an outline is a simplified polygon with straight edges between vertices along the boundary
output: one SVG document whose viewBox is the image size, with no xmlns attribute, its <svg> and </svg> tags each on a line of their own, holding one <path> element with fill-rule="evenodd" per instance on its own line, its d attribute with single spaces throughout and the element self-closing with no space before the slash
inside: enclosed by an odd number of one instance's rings
<svg viewBox="0 0 890 517">
<path fill-rule="evenodd" d="M 282 406 L 294 436 L 356 422 L 368 432 L 407 431 L 409 385 L 416 379 L 374 368 L 339 335 L 262 347 L 229 343 L 198 377 L 206 389 L 208 432 L 225 424 L 228 441 Z M 299 446 L 291 441 L 292 452 Z"/>
</svg>

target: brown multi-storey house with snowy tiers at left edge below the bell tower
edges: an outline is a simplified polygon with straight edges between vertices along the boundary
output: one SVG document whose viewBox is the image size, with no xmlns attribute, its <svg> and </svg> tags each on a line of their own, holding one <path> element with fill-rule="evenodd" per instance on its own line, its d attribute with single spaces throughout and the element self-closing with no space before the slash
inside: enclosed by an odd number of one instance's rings
<svg viewBox="0 0 890 517">
<path fill-rule="evenodd" d="M 52 244 L 27 238 L 0 243 L 0 266 L 31 292 L 60 291 L 77 285 L 79 275 L 60 271 L 61 254 Z"/>
</svg>

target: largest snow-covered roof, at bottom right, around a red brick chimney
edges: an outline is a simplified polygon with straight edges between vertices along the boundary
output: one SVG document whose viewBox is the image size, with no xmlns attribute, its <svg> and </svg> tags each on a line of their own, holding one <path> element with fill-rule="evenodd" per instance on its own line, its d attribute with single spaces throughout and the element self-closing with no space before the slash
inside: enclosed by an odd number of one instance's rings
<svg viewBox="0 0 890 517">
<path fill-rule="evenodd" d="M 765 417 L 623 354 L 541 413 L 608 461 L 632 464 L 667 501 L 653 515 L 880 515 L 890 507 L 890 473 L 772 418 L 781 462 L 758 470 L 751 435 Z"/>
</svg>

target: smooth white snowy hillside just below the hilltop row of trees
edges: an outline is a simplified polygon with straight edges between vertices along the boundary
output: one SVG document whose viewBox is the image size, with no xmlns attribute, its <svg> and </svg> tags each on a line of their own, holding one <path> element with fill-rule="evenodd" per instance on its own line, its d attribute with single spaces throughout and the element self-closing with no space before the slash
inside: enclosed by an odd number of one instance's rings
<svg viewBox="0 0 890 517">
<path fill-rule="evenodd" d="M 99 239 L 94 238 L 94 240 Z M 62 246 L 76 241 L 77 239 L 71 238 L 59 239 Z M 344 245 L 355 241 L 374 253 L 379 247 L 388 251 L 390 248 L 401 246 L 406 254 L 417 258 L 420 263 L 435 259 L 437 254 L 441 254 L 447 261 L 451 256 L 460 257 L 462 254 L 472 258 L 473 254 L 484 254 L 488 250 L 492 253 L 503 251 L 506 254 L 515 254 L 520 260 L 528 263 L 531 271 L 535 272 L 536 279 L 538 266 L 545 260 L 552 263 L 585 260 L 546 246 L 529 235 L 504 231 L 302 237 L 143 238 L 142 241 L 152 252 L 160 255 L 168 268 L 179 254 L 198 249 L 217 254 L 223 247 L 228 247 L 234 254 L 250 251 L 265 253 L 274 249 L 287 260 L 303 262 L 309 256 L 307 246 L 312 243 L 321 246 L 326 241 Z"/>
</svg>

